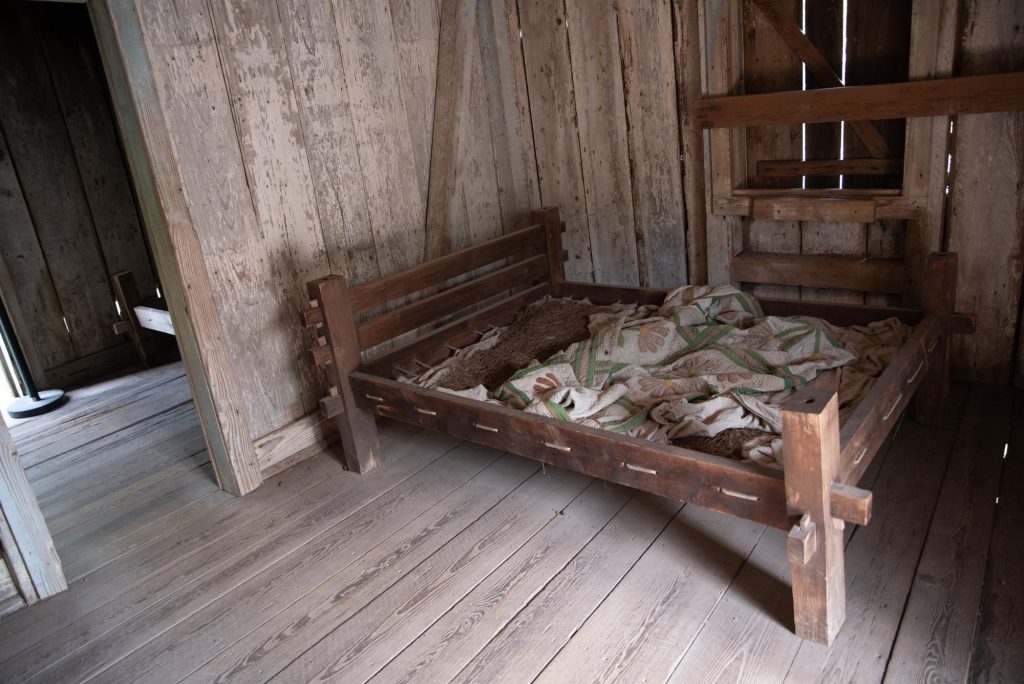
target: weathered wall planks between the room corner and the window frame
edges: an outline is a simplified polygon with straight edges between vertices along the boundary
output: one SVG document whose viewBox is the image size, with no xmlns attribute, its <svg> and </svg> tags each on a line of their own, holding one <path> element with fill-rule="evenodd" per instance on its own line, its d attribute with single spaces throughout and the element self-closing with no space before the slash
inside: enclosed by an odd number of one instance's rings
<svg viewBox="0 0 1024 684">
<path fill-rule="evenodd" d="M 687 280 L 669 0 L 520 0 L 541 200 L 568 226 L 574 280 Z"/>
</svg>

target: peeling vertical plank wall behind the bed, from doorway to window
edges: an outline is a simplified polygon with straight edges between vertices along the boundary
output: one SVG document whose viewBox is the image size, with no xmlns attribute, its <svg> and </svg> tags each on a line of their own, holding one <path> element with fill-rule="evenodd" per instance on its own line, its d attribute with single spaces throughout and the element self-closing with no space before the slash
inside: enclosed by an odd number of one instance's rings
<svg viewBox="0 0 1024 684">
<path fill-rule="evenodd" d="M 312 413 L 321 379 L 298 318 L 307 279 L 376 277 L 557 204 L 569 277 L 655 287 L 688 280 L 689 170 L 677 94 L 691 69 L 679 22 L 695 12 L 680 10 L 684 0 L 110 2 L 138 17 L 187 208 L 177 219 L 198 236 L 220 342 L 264 468 L 326 429 Z M 715 8 L 752 4 L 701 6 L 697 13 L 712 12 L 709 41 L 725 16 Z M 888 3 L 868 4 L 852 26 L 866 32 L 894 20 Z M 819 18 L 810 17 L 815 32 L 836 33 Z M 770 31 L 736 35 L 764 55 L 749 68 L 785 61 Z M 906 78 L 905 55 L 869 44 L 851 53 L 861 60 L 850 71 L 858 82 Z M 771 87 L 793 87 L 795 73 L 799 84 L 799 62 L 783 67 L 767 75 Z M 741 87 L 714 76 L 709 90 Z M 823 140 L 815 144 L 835 146 L 835 126 L 814 130 Z M 759 144 L 781 155 L 784 142 L 793 154 L 793 131 L 777 134 L 781 142 Z M 903 229 L 795 222 L 779 237 L 738 225 L 709 216 L 698 242 L 898 256 Z M 727 272 L 714 259 L 707 266 L 713 280 Z"/>
</svg>

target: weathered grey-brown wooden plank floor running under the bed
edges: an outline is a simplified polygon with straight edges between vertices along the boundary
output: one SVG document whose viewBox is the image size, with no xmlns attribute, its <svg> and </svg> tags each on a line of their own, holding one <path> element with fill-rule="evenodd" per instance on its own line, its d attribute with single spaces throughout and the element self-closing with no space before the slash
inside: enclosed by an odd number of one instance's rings
<svg viewBox="0 0 1024 684">
<path fill-rule="evenodd" d="M 134 374 L 12 428 L 72 584 L 0 621 L 0 681 L 1024 681 L 1024 392 L 946 418 L 865 476 L 828 649 L 780 530 L 392 422 L 373 473 L 237 499 L 180 366 Z"/>
</svg>

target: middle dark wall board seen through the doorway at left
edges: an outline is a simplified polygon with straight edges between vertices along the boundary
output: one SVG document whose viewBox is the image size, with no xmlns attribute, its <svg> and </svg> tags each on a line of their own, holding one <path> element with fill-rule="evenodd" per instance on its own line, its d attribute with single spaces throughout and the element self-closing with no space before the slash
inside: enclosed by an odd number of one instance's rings
<svg viewBox="0 0 1024 684">
<path fill-rule="evenodd" d="M 13 160 L 77 355 L 120 340 L 114 296 L 68 131 L 31 16 L 5 6 L 0 22 L 0 128 Z M 42 87 L 40 86 L 42 84 Z"/>
</svg>

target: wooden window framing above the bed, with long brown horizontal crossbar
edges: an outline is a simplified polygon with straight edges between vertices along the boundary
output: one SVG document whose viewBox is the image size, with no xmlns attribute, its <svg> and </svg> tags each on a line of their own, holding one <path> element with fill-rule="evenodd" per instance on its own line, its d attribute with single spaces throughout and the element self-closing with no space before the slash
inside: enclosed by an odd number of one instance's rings
<svg viewBox="0 0 1024 684">
<path fill-rule="evenodd" d="M 945 211 L 946 163 L 950 115 L 1002 112 L 1024 106 L 1024 74 L 1006 73 L 950 78 L 956 45 L 952 0 L 913 0 L 909 69 L 905 83 L 843 86 L 827 59 L 786 14 L 777 0 L 696 0 L 686 3 L 693 16 L 684 25 L 683 48 L 691 63 L 684 149 L 687 168 L 703 169 L 687 186 L 688 206 L 703 209 L 703 241 L 709 280 L 772 284 L 753 275 L 764 272 L 764 257 L 744 253 L 749 219 L 870 223 L 906 220 L 901 257 L 822 259 L 813 255 L 771 255 L 790 281 L 818 287 L 821 266 L 855 268 L 882 279 L 879 291 L 899 295 L 904 303 L 923 301 L 921 274 L 929 254 L 941 249 Z M 745 94 L 743 92 L 743 9 L 752 7 L 779 39 L 807 65 L 822 85 L 816 90 Z M 699 66 L 696 66 L 699 65 Z M 892 159 L 872 121 L 906 118 L 902 159 Z M 871 159 L 759 162 L 763 175 L 899 174 L 899 188 L 751 188 L 745 186 L 748 126 L 846 121 Z M 790 168 L 786 168 L 788 164 Z M 887 170 L 888 169 L 888 170 Z M 899 273 L 902 271 L 903 277 Z M 792 283 L 791 283 L 792 284 Z M 894 291 L 896 285 L 900 290 Z M 843 287 L 822 285 L 820 287 Z M 857 289 L 857 288 L 854 288 Z"/>
</svg>

